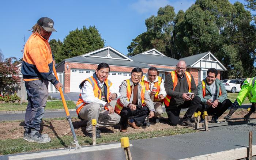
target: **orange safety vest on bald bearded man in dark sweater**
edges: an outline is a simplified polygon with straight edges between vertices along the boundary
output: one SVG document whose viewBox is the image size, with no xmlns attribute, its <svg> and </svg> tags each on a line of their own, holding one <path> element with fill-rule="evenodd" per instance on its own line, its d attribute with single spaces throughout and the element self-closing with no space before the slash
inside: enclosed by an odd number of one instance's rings
<svg viewBox="0 0 256 160">
<path fill-rule="evenodd" d="M 173 91 L 178 83 L 178 76 L 177 76 L 177 73 L 176 71 L 172 71 L 170 72 L 171 73 L 171 76 L 172 76 L 172 80 L 173 80 Z M 187 82 L 188 82 L 188 91 L 191 92 L 191 74 L 189 72 L 185 72 L 185 76 L 186 76 L 186 79 L 187 79 Z M 171 100 L 171 96 L 167 95 L 164 99 L 163 99 L 163 102 L 165 103 L 165 107 L 169 107 L 170 105 L 170 100 Z"/>
</svg>

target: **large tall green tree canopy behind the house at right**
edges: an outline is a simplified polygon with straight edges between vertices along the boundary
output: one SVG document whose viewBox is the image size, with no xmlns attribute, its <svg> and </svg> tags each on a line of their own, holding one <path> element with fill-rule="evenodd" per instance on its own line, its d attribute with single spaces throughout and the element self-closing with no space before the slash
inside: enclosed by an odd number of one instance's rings
<svg viewBox="0 0 256 160">
<path fill-rule="evenodd" d="M 127 47 L 128 56 L 155 48 L 172 58 L 211 51 L 227 68 L 223 77 L 256 75 L 256 27 L 242 3 L 196 0 L 187 11 L 167 5 L 146 19 L 147 31 Z"/>
</svg>

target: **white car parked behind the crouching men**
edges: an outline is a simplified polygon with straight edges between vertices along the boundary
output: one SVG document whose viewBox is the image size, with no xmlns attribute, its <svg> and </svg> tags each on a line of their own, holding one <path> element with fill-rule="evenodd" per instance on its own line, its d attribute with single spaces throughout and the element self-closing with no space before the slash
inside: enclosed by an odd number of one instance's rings
<svg viewBox="0 0 256 160">
<path fill-rule="evenodd" d="M 221 80 L 222 84 L 225 85 L 226 91 L 230 91 L 232 93 L 240 92 L 241 87 L 240 84 L 242 83 L 241 80 L 235 80 L 235 79 L 225 79 Z"/>
</svg>

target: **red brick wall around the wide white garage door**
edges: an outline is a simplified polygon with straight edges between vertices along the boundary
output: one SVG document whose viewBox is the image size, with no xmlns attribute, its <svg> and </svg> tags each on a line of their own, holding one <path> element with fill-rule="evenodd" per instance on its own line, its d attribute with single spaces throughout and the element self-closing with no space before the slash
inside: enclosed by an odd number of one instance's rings
<svg viewBox="0 0 256 160">
<path fill-rule="evenodd" d="M 67 70 L 67 65 L 68 70 Z M 65 93 L 70 92 L 70 69 L 75 68 L 75 69 L 89 69 L 89 70 L 96 70 L 97 69 L 96 64 L 82 64 L 82 63 L 70 63 L 70 62 L 65 62 L 65 78 L 64 78 L 64 84 L 65 84 Z M 131 73 L 132 69 L 134 67 L 122 67 L 122 66 L 110 66 L 110 72 L 129 72 Z M 142 68 L 143 73 L 147 73 L 148 68 Z"/>
</svg>

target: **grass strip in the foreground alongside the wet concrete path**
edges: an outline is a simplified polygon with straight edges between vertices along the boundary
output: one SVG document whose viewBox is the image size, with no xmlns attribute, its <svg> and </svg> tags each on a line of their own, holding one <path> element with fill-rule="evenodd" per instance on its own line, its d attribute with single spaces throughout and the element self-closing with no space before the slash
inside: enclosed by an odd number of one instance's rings
<svg viewBox="0 0 256 160">
<path fill-rule="evenodd" d="M 144 138 L 153 138 L 161 136 L 171 136 L 176 134 L 193 133 L 196 130 L 188 128 L 175 128 L 175 129 L 165 129 L 156 130 L 151 132 L 140 132 L 140 133 L 111 133 L 101 135 L 101 138 L 96 139 L 97 144 L 108 143 L 108 142 L 118 142 L 121 137 L 129 137 L 129 140 L 138 140 Z M 79 145 L 91 145 L 92 139 L 89 137 L 77 136 Z M 1 140 L 0 155 L 8 155 L 20 152 L 32 152 L 41 151 L 46 149 L 56 149 L 56 148 L 67 148 L 70 146 L 70 142 L 73 142 L 72 136 L 64 136 L 59 138 L 52 138 L 52 141 L 46 144 L 38 144 L 36 142 L 27 142 L 23 138 L 18 139 L 7 139 Z"/>
</svg>

